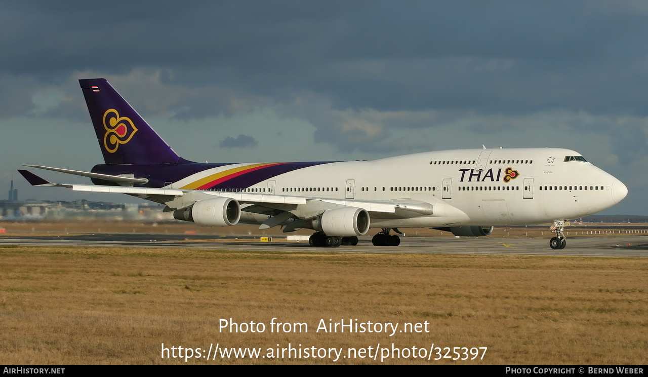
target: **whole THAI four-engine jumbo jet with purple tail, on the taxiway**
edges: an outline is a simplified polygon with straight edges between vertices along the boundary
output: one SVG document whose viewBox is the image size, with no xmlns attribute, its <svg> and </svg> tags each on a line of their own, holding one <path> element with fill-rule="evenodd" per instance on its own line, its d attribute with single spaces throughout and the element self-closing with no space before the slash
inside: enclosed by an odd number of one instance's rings
<svg viewBox="0 0 648 377">
<path fill-rule="evenodd" d="M 314 230 L 316 247 L 397 246 L 401 228 L 487 236 L 493 226 L 553 223 L 552 249 L 566 245 L 565 221 L 610 208 L 625 185 L 575 151 L 558 148 L 463 149 L 342 162 L 201 164 L 181 158 L 105 79 L 79 80 L 105 164 L 91 172 L 25 165 L 87 176 L 94 185 L 53 184 L 30 171 L 34 186 L 126 193 L 166 204 L 179 220 L 203 226 L 257 224 L 284 232 Z"/>
</svg>

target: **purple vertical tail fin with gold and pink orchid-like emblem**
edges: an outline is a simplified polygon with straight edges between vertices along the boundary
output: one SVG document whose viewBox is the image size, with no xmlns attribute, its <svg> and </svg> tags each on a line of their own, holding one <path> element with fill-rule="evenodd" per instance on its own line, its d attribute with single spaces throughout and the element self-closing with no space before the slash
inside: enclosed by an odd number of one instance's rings
<svg viewBox="0 0 648 377">
<path fill-rule="evenodd" d="M 106 164 L 183 162 L 106 79 L 79 80 Z"/>
</svg>

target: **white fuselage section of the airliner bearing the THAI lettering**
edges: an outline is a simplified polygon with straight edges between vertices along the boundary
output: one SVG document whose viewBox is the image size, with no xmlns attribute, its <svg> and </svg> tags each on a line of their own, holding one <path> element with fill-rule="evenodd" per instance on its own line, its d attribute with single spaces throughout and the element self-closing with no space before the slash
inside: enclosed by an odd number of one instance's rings
<svg viewBox="0 0 648 377">
<path fill-rule="evenodd" d="M 202 171 L 168 187 L 181 188 L 232 167 Z M 374 228 L 548 223 L 600 212 L 627 195 L 625 185 L 614 176 L 586 162 L 578 152 L 557 148 L 464 149 L 332 162 L 237 190 L 434 206 L 433 215 L 372 216 Z"/>
</svg>

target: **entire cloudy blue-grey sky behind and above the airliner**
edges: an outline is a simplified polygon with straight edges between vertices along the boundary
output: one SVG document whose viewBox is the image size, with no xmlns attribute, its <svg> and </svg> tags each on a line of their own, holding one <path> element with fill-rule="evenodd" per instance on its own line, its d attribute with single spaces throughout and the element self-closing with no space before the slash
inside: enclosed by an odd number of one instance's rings
<svg viewBox="0 0 648 377">
<path fill-rule="evenodd" d="M 104 77 L 189 160 L 564 147 L 645 215 L 646 41 L 639 0 L 3 1 L 0 193 L 128 201 L 16 172 L 102 163 L 78 79 Z"/>
</svg>

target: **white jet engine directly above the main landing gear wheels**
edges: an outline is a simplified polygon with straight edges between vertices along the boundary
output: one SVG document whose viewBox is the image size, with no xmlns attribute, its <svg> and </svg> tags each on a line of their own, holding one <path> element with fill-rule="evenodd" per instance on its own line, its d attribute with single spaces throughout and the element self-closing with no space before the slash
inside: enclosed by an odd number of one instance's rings
<svg viewBox="0 0 648 377">
<path fill-rule="evenodd" d="M 313 225 L 329 236 L 362 236 L 369 231 L 369 213 L 362 208 L 334 208 L 322 213 Z"/>
</svg>

